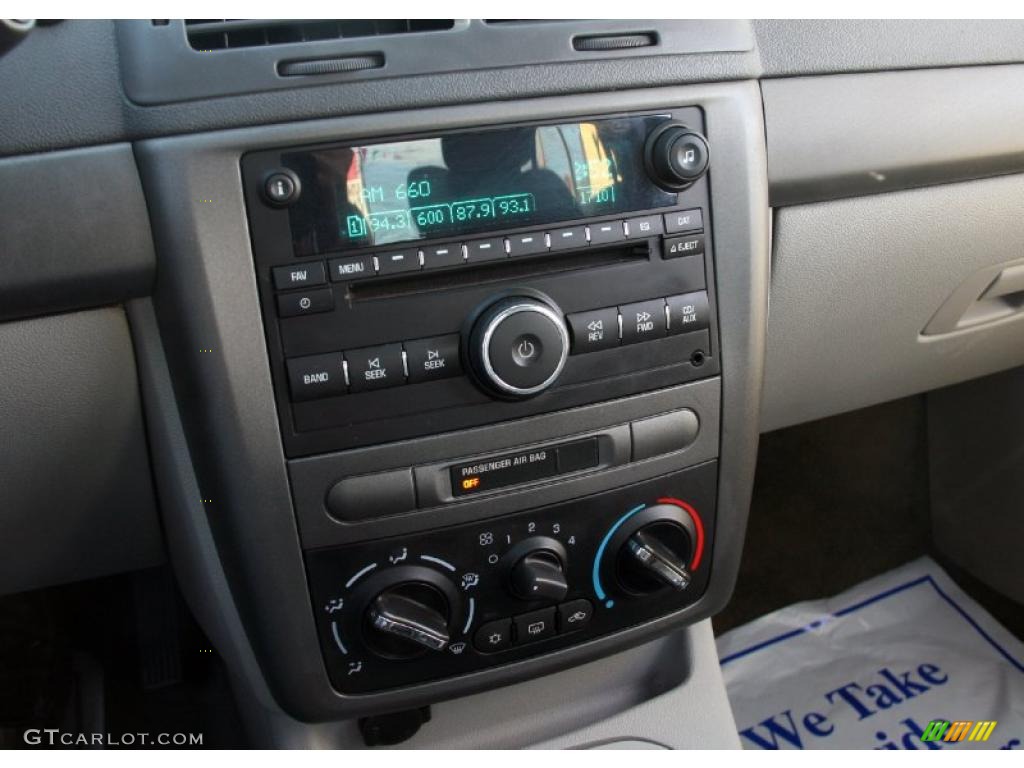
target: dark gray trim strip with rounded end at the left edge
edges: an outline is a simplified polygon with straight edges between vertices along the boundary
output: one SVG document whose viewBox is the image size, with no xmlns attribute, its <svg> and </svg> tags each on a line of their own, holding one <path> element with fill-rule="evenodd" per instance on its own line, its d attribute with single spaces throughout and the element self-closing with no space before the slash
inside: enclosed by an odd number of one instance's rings
<svg viewBox="0 0 1024 768">
<path fill-rule="evenodd" d="M 150 292 L 157 262 L 128 144 L 0 160 L 0 319 Z"/>
</svg>

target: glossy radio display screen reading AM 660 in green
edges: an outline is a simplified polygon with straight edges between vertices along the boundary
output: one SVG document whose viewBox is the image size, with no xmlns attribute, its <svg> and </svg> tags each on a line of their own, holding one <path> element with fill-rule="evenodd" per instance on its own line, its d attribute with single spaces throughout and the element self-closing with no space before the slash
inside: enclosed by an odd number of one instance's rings
<svg viewBox="0 0 1024 768">
<path fill-rule="evenodd" d="M 452 133 L 286 153 L 302 183 L 296 256 L 676 205 L 644 170 L 665 116 Z"/>
</svg>

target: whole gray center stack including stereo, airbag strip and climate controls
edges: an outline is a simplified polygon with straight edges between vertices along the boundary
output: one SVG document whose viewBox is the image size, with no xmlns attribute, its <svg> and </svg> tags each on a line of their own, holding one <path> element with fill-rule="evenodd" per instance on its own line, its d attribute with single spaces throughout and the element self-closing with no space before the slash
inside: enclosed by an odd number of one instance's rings
<svg viewBox="0 0 1024 768">
<path fill-rule="evenodd" d="M 759 121 L 757 89 L 725 84 L 140 145 L 194 523 L 224 631 L 289 713 L 535 678 L 727 599 Z"/>
</svg>

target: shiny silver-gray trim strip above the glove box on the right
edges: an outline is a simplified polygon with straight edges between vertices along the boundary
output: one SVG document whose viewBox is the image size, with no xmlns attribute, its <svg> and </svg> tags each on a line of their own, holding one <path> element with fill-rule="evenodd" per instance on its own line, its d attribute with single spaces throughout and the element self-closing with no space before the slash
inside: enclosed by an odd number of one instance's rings
<svg viewBox="0 0 1024 768">
<path fill-rule="evenodd" d="M 1022 84 L 1024 66 L 765 80 L 771 204 L 1024 171 Z"/>
</svg>

